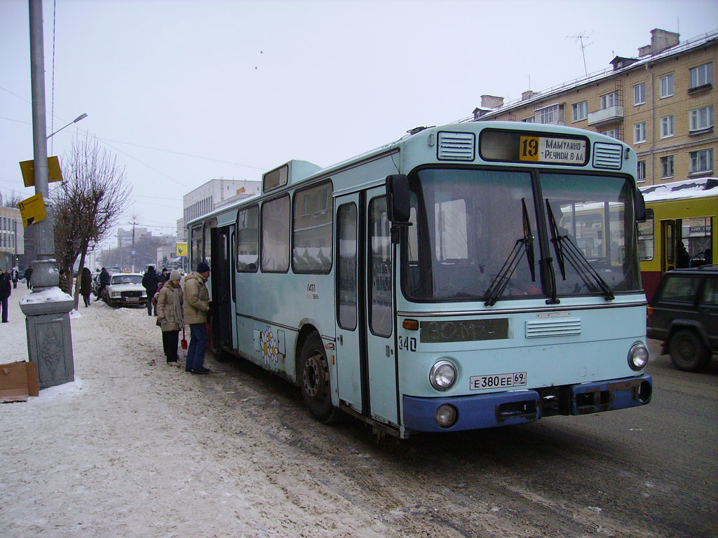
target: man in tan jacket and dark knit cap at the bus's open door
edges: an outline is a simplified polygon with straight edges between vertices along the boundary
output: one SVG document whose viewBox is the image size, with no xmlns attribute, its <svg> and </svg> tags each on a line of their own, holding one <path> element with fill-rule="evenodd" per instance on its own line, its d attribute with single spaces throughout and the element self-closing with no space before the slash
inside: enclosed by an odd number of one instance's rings
<svg viewBox="0 0 718 538">
<path fill-rule="evenodd" d="M 197 271 L 185 277 L 185 323 L 190 326 L 190 347 L 187 349 L 185 371 L 192 374 L 209 374 L 204 367 L 207 335 L 207 316 L 210 311 L 210 291 L 207 279 L 210 266 L 197 263 Z"/>
</svg>

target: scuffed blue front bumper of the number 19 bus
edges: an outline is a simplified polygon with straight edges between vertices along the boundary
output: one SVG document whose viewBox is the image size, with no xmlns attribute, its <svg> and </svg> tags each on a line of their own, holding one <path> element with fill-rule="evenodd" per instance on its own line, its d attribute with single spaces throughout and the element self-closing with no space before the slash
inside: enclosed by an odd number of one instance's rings
<svg viewBox="0 0 718 538">
<path fill-rule="evenodd" d="M 404 426 L 419 432 L 478 430 L 530 423 L 551 415 L 587 415 L 637 407 L 650 402 L 652 393 L 653 380 L 644 374 L 536 390 L 439 398 L 404 396 Z M 449 428 L 442 428 L 434 419 L 444 404 L 457 410 L 457 421 Z"/>
</svg>

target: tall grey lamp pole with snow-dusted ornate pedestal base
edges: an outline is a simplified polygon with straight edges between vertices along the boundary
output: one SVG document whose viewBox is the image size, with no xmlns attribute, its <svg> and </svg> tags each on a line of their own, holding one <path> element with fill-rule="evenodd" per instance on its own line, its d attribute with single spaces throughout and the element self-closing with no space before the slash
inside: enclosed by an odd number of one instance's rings
<svg viewBox="0 0 718 538">
<path fill-rule="evenodd" d="M 45 47 L 42 30 L 42 0 L 29 0 L 30 78 L 32 88 L 32 142 L 35 194 L 49 201 L 47 181 L 47 123 L 45 121 Z M 75 379 L 70 310 L 75 301 L 57 288 L 55 219 L 52 207 L 45 220 L 32 225 L 37 260 L 32 265 L 32 293 L 20 301 L 25 314 L 27 353 L 37 364 L 41 389 Z"/>
</svg>

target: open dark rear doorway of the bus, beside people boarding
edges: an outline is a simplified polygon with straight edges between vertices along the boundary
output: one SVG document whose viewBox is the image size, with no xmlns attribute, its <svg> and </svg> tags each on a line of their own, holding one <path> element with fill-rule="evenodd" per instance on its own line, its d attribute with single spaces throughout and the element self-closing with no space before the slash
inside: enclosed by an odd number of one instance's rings
<svg viewBox="0 0 718 538">
<path fill-rule="evenodd" d="M 234 294 L 234 225 L 213 228 L 210 241 L 212 247 L 212 351 L 218 358 L 221 349 L 236 349 L 233 343 Z"/>
</svg>

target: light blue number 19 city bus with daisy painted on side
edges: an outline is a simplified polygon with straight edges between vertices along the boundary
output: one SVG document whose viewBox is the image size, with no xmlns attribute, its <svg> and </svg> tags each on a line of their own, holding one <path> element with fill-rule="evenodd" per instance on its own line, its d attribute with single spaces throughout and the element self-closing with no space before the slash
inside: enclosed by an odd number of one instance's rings
<svg viewBox="0 0 718 538">
<path fill-rule="evenodd" d="M 645 405 L 635 171 L 614 138 L 513 122 L 289 161 L 188 223 L 213 346 L 399 438 Z"/>
</svg>

